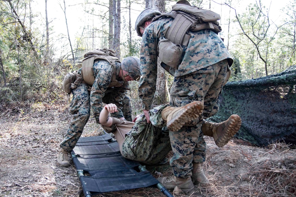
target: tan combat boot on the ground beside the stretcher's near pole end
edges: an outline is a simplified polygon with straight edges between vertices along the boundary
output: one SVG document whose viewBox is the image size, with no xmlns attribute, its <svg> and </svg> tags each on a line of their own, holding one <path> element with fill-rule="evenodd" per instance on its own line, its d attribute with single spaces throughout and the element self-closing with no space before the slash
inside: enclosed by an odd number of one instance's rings
<svg viewBox="0 0 296 197">
<path fill-rule="evenodd" d="M 176 186 L 178 186 L 183 192 L 194 190 L 191 177 L 181 178 L 173 175 L 171 177 L 160 177 L 157 178 L 157 180 L 169 190 L 173 190 Z"/>
</svg>

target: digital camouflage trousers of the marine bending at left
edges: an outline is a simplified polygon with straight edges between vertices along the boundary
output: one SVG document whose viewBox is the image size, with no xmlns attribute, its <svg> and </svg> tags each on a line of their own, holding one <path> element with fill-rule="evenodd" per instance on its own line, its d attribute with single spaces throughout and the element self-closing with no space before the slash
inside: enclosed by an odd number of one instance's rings
<svg viewBox="0 0 296 197">
<path fill-rule="evenodd" d="M 87 84 L 79 84 L 77 88 L 72 91 L 73 98 L 70 103 L 69 112 L 74 116 L 70 122 L 70 126 L 64 140 L 60 144 L 60 147 L 67 151 L 73 150 L 82 134 L 84 126 L 89 120 L 91 105 L 90 92 L 88 89 L 89 86 Z M 106 103 L 108 100 L 105 98 L 103 101 Z M 109 104 L 109 102 L 106 104 Z M 123 115 L 128 117 L 129 121 L 131 121 L 131 104 L 128 96 L 126 96 L 123 100 L 122 112 Z"/>
</svg>

